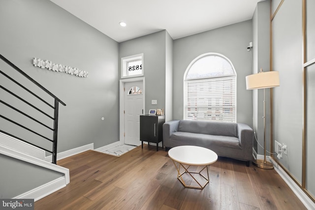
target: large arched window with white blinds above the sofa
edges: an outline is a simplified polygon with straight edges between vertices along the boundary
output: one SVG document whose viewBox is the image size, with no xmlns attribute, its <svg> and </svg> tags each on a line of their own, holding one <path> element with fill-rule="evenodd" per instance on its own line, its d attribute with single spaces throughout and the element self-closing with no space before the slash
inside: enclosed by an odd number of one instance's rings
<svg viewBox="0 0 315 210">
<path fill-rule="evenodd" d="M 184 75 L 184 119 L 236 122 L 236 72 L 225 56 L 203 54 Z"/>
</svg>

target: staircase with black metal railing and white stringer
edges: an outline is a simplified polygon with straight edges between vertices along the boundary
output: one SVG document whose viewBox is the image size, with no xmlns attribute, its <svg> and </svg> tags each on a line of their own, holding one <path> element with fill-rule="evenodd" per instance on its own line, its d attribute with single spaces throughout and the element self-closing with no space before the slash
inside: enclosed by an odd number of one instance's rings
<svg viewBox="0 0 315 210">
<path fill-rule="evenodd" d="M 57 166 L 60 104 L 65 106 L 53 93 L 0 55 L 0 162 L 22 166 L 30 172 L 30 180 L 34 168 L 52 179 L 45 184 L 42 184 L 45 179 L 41 180 L 40 186 L 34 183 L 36 180 L 19 183 L 16 173 L 20 172 L 14 172 L 14 167 L 9 165 L 0 172 L 0 198 L 38 200 L 69 183 L 69 170 Z M 46 154 L 51 154 L 51 163 L 44 161 Z M 12 177 L 16 178 L 13 180 L 16 184 L 24 185 L 23 192 L 5 189 L 5 179 L 12 181 Z M 25 179 L 23 174 L 20 177 Z"/>
</svg>

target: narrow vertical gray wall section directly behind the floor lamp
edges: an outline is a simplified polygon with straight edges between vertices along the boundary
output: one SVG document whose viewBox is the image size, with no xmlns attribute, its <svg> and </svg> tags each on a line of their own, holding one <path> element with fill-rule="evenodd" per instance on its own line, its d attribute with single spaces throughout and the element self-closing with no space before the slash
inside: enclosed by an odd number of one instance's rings
<svg viewBox="0 0 315 210">
<path fill-rule="evenodd" d="M 252 17 L 252 74 L 260 71 L 270 71 L 270 2 L 269 0 L 258 2 Z M 266 150 L 270 151 L 270 89 L 266 94 Z M 263 90 L 252 90 L 253 97 L 253 123 L 255 135 L 260 145 L 264 145 L 263 127 Z M 256 140 L 253 142 L 257 154 L 264 154 L 262 147 Z M 267 153 L 266 155 L 270 155 Z"/>
</svg>

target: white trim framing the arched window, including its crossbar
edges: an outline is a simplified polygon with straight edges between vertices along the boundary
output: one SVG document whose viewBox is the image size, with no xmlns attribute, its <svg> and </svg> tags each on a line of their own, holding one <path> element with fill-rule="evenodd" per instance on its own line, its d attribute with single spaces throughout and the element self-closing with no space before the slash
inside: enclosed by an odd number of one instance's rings
<svg viewBox="0 0 315 210">
<path fill-rule="evenodd" d="M 185 92 L 186 81 L 207 79 L 207 78 L 198 78 L 198 79 L 187 79 L 186 80 L 186 76 L 188 74 L 188 71 L 189 71 L 190 67 L 192 66 L 192 64 L 194 62 L 196 62 L 197 60 L 199 60 L 199 59 L 201 59 L 201 58 L 203 58 L 205 56 L 211 56 L 211 55 L 213 55 L 213 56 L 220 56 L 221 58 L 227 60 L 230 63 L 230 65 L 232 66 L 232 69 L 233 69 L 233 72 L 234 72 L 234 77 L 235 77 L 235 89 L 236 89 L 235 90 L 235 120 L 234 120 L 234 122 L 237 122 L 237 73 L 236 73 L 236 70 L 235 70 L 234 65 L 231 62 L 231 60 L 229 60 L 227 57 L 225 57 L 224 55 L 222 55 L 220 53 L 204 53 L 204 54 L 196 57 L 194 60 L 192 60 L 189 63 L 188 67 L 186 68 L 186 71 L 184 73 L 184 78 L 183 78 L 183 119 L 185 119 L 185 116 L 186 116 L 186 108 L 185 108 L 185 104 L 186 104 L 186 101 L 185 101 L 185 99 L 186 99 L 186 97 L 185 97 L 185 95 L 186 95 L 186 92 Z M 214 78 L 224 78 L 224 77 L 232 77 L 232 75 L 219 76 L 219 77 L 209 77 L 209 78 L 214 79 Z"/>
</svg>

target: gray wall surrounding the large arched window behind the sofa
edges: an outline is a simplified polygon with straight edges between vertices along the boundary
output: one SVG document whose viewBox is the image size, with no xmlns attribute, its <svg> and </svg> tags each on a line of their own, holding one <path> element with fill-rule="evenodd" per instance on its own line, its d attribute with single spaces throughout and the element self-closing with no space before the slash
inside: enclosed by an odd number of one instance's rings
<svg viewBox="0 0 315 210">
<path fill-rule="evenodd" d="M 252 126 L 252 91 L 245 77 L 252 74 L 252 20 L 174 40 L 173 119 L 183 119 L 183 82 L 189 63 L 204 53 L 220 53 L 234 65 L 237 74 L 237 121 Z"/>
</svg>

